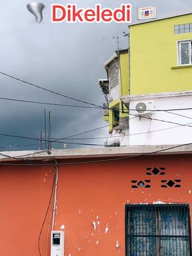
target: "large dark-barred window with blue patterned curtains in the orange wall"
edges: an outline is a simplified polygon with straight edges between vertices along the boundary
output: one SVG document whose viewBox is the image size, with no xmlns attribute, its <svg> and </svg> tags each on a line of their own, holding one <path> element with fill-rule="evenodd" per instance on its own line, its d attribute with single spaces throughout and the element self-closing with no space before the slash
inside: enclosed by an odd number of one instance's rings
<svg viewBox="0 0 192 256">
<path fill-rule="evenodd" d="M 125 205 L 126 256 L 191 256 L 188 204 Z"/>
</svg>

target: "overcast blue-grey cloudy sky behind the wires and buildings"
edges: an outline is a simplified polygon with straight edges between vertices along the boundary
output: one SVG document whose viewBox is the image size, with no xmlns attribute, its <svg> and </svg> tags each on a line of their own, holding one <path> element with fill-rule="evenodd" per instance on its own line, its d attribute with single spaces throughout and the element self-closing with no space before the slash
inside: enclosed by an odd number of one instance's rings
<svg viewBox="0 0 192 256">
<path fill-rule="evenodd" d="M 113 40 L 98 38 L 120 36 L 120 47 L 127 47 L 126 24 L 52 24 L 51 4 L 69 1 L 42 1 L 45 4 L 44 20 L 35 23 L 35 17 L 26 9 L 26 0 L 1 1 L 0 15 L 0 71 L 39 84 L 49 90 L 102 105 L 98 79 L 106 77 L 103 64 L 116 50 Z M 136 8 L 157 6 L 157 15 L 167 17 L 192 11 L 191 0 L 132 0 L 132 1 L 70 1 L 79 7 L 117 8 L 122 3 L 132 4 L 133 20 Z M 59 104 L 78 104 L 72 100 L 26 86 L 19 81 L 0 75 L 1 97 L 39 100 Z M 0 133 L 36 137 L 44 130 L 42 105 L 0 100 Z M 52 111 L 52 137 L 63 138 L 106 125 L 102 110 L 46 106 Z M 85 134 L 84 137 L 108 136 L 108 129 Z M 79 136 L 83 137 L 83 136 Z M 76 142 L 76 141 L 73 141 Z M 79 141 L 77 141 L 79 142 Z M 103 140 L 85 140 L 84 143 L 104 143 Z M 4 145 L 34 144 L 36 141 L 0 136 Z M 61 148 L 62 145 L 54 145 Z M 80 145 L 70 147 L 83 147 Z M 28 147 L 26 149 L 37 147 Z M 20 148 L 17 148 L 18 150 Z M 23 148 L 24 149 L 24 148 Z"/>
</svg>

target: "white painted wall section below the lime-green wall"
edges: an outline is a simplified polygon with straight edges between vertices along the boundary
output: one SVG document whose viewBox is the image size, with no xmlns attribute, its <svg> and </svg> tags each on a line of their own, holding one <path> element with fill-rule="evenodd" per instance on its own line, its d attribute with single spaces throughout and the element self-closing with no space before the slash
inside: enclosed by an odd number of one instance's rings
<svg viewBox="0 0 192 256">
<path fill-rule="evenodd" d="M 143 98 L 143 100 L 146 100 Z M 154 97 L 150 98 L 154 100 L 156 109 L 179 109 L 179 108 L 192 108 L 192 95 L 180 96 L 180 97 Z M 134 108 L 135 102 L 141 102 L 142 99 L 136 99 L 130 101 L 130 109 Z M 167 122 L 161 122 L 158 120 L 150 120 L 147 118 L 133 118 L 130 116 L 129 121 L 129 136 L 125 136 L 121 145 L 173 145 L 192 143 L 192 109 L 170 111 L 179 115 L 188 117 L 173 115 L 165 111 L 158 111 L 152 114 L 152 118 L 175 122 L 178 124 L 188 124 L 191 127 L 185 127 L 177 124 L 169 124 Z M 134 111 L 130 111 L 130 114 L 134 114 Z M 162 130 L 163 131 L 159 131 Z M 145 132 L 144 134 L 138 134 Z M 134 135 L 135 134 L 135 135 Z M 138 134 L 138 135 L 136 135 Z M 127 135 L 127 134 L 126 134 Z"/>
</svg>

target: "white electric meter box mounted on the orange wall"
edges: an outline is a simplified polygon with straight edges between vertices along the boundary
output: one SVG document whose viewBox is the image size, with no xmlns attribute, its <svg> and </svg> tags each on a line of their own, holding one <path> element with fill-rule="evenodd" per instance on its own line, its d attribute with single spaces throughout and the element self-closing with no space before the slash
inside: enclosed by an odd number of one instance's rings
<svg viewBox="0 0 192 256">
<path fill-rule="evenodd" d="M 64 256 L 63 230 L 51 231 L 51 256 Z"/>
</svg>

